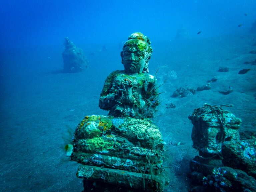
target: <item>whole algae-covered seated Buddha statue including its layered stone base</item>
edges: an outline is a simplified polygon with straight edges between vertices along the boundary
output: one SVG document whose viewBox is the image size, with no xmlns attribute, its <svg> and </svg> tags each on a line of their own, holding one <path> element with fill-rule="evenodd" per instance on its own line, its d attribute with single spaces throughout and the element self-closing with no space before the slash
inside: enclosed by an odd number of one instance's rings
<svg viewBox="0 0 256 192">
<path fill-rule="evenodd" d="M 142 33 L 133 33 L 121 52 L 125 70 L 106 79 L 99 106 L 109 116 L 85 116 L 66 155 L 80 163 L 77 176 L 84 191 L 163 192 L 164 142 L 150 120 L 159 104 L 157 85 L 148 74 L 152 48 Z"/>
</svg>

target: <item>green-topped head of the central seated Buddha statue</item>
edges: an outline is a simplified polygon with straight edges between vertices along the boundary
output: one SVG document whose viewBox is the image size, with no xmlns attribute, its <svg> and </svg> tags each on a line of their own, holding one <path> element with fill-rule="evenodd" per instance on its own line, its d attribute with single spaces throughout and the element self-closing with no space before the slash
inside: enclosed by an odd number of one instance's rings
<svg viewBox="0 0 256 192">
<path fill-rule="evenodd" d="M 128 37 L 121 51 L 122 64 L 126 73 L 148 72 L 148 62 L 152 55 L 149 38 L 136 32 Z"/>
</svg>

